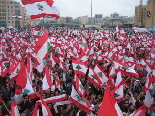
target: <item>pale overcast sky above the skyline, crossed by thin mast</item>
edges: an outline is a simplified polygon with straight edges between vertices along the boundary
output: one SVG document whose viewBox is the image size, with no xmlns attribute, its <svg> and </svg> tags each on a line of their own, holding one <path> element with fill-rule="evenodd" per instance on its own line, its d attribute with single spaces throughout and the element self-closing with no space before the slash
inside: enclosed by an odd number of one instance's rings
<svg viewBox="0 0 155 116">
<path fill-rule="evenodd" d="M 20 0 L 16 0 L 20 1 Z M 60 10 L 60 16 L 78 16 L 91 15 L 91 0 L 54 0 Z M 123 16 L 134 16 L 135 6 L 139 5 L 139 0 L 92 0 L 93 16 L 103 14 L 110 16 L 111 13 L 117 12 Z M 144 0 L 146 4 L 147 0 Z"/>
</svg>

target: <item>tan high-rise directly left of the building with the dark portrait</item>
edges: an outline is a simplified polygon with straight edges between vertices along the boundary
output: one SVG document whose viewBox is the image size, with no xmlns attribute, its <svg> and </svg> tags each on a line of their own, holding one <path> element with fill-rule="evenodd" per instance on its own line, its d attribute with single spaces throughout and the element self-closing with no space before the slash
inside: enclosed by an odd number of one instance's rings
<svg viewBox="0 0 155 116">
<path fill-rule="evenodd" d="M 138 27 L 145 26 L 146 20 L 146 5 L 139 5 L 135 7 L 134 25 Z"/>
</svg>

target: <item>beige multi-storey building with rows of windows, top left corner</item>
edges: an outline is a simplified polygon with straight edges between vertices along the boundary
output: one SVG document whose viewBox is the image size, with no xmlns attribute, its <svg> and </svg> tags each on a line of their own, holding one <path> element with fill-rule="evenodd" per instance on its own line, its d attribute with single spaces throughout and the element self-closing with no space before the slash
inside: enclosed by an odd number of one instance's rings
<svg viewBox="0 0 155 116">
<path fill-rule="evenodd" d="M 22 15 L 23 18 L 12 18 L 14 14 Z M 26 25 L 25 8 L 14 0 L 0 0 L 0 27 L 24 25 Z"/>
</svg>

